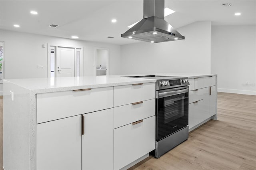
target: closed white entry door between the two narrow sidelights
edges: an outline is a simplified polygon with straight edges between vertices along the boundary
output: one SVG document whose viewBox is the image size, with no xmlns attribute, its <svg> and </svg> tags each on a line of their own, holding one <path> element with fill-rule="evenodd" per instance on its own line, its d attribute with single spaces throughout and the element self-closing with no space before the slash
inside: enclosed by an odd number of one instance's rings
<svg viewBox="0 0 256 170">
<path fill-rule="evenodd" d="M 74 77 L 74 48 L 58 47 L 56 77 Z"/>
</svg>

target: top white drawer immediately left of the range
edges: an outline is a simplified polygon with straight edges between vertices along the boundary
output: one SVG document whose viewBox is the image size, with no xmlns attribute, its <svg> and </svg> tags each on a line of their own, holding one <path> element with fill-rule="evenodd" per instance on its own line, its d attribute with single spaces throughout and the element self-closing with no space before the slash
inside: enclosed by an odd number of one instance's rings
<svg viewBox="0 0 256 170">
<path fill-rule="evenodd" d="M 155 98 L 155 82 L 114 87 L 114 107 Z"/>
</svg>

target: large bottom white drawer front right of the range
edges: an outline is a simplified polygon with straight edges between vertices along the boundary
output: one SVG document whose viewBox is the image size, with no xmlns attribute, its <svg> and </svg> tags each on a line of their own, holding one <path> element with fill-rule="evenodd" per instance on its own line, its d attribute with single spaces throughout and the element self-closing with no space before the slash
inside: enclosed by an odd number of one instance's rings
<svg viewBox="0 0 256 170">
<path fill-rule="evenodd" d="M 188 112 L 188 127 L 193 128 L 210 117 L 209 103 L 207 100 L 190 103 L 188 105 Z"/>
</svg>

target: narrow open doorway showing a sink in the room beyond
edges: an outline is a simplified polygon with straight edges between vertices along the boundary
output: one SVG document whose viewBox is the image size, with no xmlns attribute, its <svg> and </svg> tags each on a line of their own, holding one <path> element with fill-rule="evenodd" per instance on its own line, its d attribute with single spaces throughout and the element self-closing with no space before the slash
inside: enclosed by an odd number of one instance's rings
<svg viewBox="0 0 256 170">
<path fill-rule="evenodd" d="M 95 75 L 109 75 L 109 49 L 95 49 Z"/>
</svg>

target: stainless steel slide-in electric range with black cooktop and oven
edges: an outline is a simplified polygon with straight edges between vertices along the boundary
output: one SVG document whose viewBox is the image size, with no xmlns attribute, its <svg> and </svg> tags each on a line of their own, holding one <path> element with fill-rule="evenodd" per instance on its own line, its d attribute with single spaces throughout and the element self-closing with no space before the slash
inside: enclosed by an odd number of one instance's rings
<svg viewBox="0 0 256 170">
<path fill-rule="evenodd" d="M 156 79 L 156 149 L 159 158 L 188 139 L 188 78 L 131 76 Z"/>
</svg>

